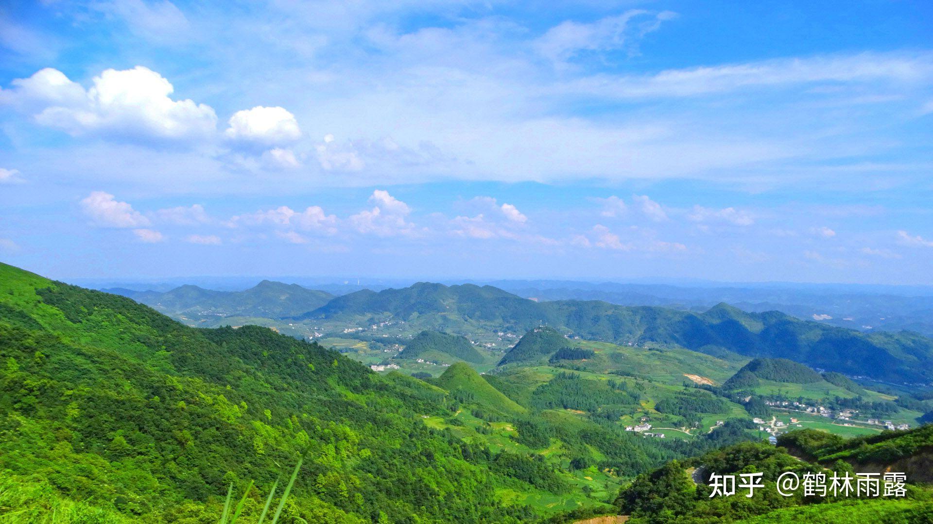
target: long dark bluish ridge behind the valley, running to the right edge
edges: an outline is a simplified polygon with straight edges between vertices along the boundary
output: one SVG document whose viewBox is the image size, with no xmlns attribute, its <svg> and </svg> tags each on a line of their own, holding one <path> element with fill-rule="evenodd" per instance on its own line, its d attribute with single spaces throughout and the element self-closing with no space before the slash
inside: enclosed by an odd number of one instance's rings
<svg viewBox="0 0 933 524">
<path fill-rule="evenodd" d="M 488 325 L 523 332 L 548 325 L 591 340 L 782 357 L 892 382 L 933 380 L 930 338 L 911 332 L 860 333 L 779 311 L 750 313 L 727 304 L 693 312 L 595 300 L 535 302 L 489 285 L 416 283 L 403 289 L 339 296 L 296 319 L 352 323 L 389 317 L 425 329 Z"/>
</svg>

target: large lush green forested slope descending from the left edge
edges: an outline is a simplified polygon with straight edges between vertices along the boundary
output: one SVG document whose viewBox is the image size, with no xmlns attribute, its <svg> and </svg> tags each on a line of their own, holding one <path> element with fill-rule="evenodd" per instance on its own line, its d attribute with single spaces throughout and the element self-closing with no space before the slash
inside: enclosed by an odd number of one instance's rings
<svg viewBox="0 0 933 524">
<path fill-rule="evenodd" d="M 146 522 L 216 522 L 230 482 L 251 479 L 255 517 L 304 449 L 286 522 L 541 515 L 500 494 L 550 488 L 513 474 L 533 467 L 526 454 L 506 468 L 425 425 L 455 403 L 438 388 L 266 328 L 192 329 L 127 298 L 0 273 L 0 517 L 13 501 L 41 512 L 53 494 Z"/>
</svg>

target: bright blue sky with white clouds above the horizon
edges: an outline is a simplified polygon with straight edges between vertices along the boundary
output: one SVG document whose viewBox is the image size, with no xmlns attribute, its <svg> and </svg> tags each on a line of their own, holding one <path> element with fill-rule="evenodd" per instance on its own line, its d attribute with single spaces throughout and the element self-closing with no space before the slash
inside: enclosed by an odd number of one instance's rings
<svg viewBox="0 0 933 524">
<path fill-rule="evenodd" d="M 7 2 L 56 278 L 933 283 L 929 2 Z"/>
</svg>

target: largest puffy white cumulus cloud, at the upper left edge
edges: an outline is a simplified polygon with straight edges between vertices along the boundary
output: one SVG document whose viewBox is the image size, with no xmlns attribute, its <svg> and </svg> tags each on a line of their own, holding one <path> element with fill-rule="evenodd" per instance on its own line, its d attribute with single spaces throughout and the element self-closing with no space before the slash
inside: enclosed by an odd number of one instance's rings
<svg viewBox="0 0 933 524">
<path fill-rule="evenodd" d="M 172 84 L 142 65 L 107 69 L 85 90 L 61 71 L 43 69 L 14 80 L 4 100 L 35 113 L 35 121 L 72 135 L 180 140 L 216 131 L 214 109 L 191 100 L 172 100 Z"/>
</svg>

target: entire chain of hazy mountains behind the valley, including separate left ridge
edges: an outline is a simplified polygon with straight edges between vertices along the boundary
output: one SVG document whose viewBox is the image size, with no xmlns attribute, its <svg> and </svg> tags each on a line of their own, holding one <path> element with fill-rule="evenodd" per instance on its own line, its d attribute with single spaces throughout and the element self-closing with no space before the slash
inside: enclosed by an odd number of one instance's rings
<svg viewBox="0 0 933 524">
<path fill-rule="evenodd" d="M 643 287 L 670 291 L 672 286 Z M 106 291 L 132 297 L 176 318 L 195 321 L 261 317 L 314 324 L 315 329 L 324 330 L 327 325 L 403 321 L 418 331 L 459 334 L 498 330 L 523 333 L 547 325 L 562 334 L 591 340 L 678 346 L 714 355 L 734 352 L 751 357 L 781 357 L 849 376 L 889 382 L 933 381 L 933 340 L 921 334 L 858 332 L 801 320 L 777 310 L 747 312 L 724 303 L 711 308 L 694 303 L 689 304 L 692 309 L 684 309 L 686 305 L 676 309 L 625 306 L 606 300 L 535 301 L 491 285 L 470 283 L 450 286 L 414 283 L 400 289 L 379 292 L 364 289 L 343 296 L 271 281 L 238 292 L 212 291 L 194 285 L 165 293 Z M 564 291 L 551 289 L 548 293 Z M 607 293 L 614 292 L 586 290 L 584 295 Z M 768 293 L 785 292 L 771 289 Z M 735 291 L 729 296 L 741 298 L 747 297 L 747 293 Z M 898 296 L 889 298 L 907 300 Z M 648 298 L 634 296 L 633 301 Z M 470 354 L 472 357 L 467 360 L 480 358 Z M 508 358 L 503 363 L 508 363 Z"/>
</svg>

